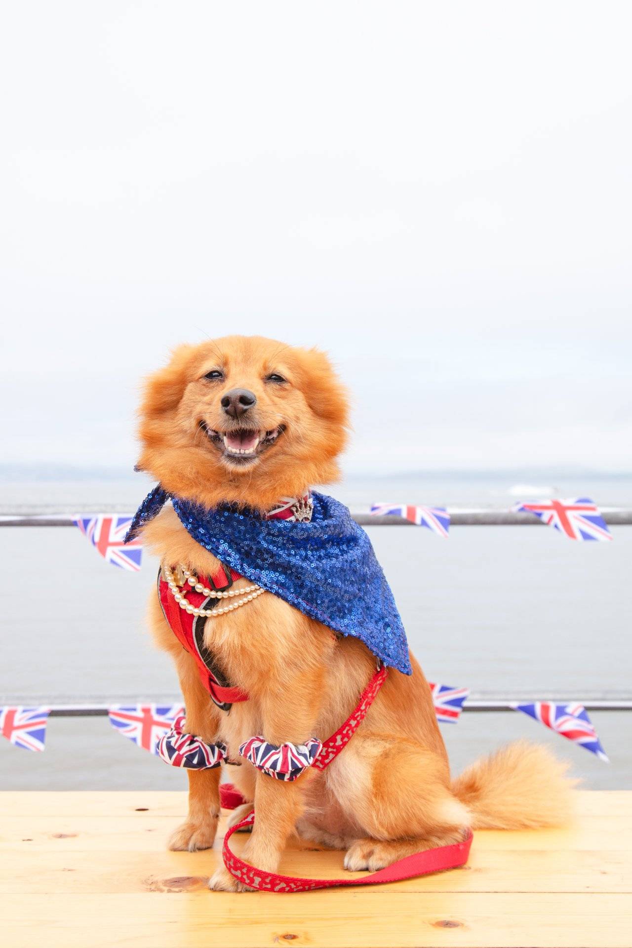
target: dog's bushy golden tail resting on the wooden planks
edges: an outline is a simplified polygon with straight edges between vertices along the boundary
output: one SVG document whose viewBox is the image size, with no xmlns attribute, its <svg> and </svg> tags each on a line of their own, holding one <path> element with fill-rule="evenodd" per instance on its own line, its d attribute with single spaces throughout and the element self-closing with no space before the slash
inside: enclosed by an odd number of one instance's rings
<svg viewBox="0 0 632 948">
<path fill-rule="evenodd" d="M 516 740 L 483 757 L 452 784 L 471 811 L 473 830 L 526 830 L 561 826 L 573 811 L 569 764 L 547 747 Z"/>
</svg>

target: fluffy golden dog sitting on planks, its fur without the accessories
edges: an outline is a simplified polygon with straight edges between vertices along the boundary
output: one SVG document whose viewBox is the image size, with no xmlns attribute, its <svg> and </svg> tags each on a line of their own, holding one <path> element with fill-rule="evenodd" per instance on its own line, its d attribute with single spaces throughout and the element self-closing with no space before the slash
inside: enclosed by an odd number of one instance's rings
<svg viewBox="0 0 632 948">
<path fill-rule="evenodd" d="M 226 337 L 176 350 L 147 382 L 140 410 L 139 466 L 166 490 L 207 507 L 221 501 L 269 510 L 281 497 L 338 477 L 348 403 L 323 354 L 261 337 Z M 200 575 L 219 563 L 198 545 L 171 507 L 143 530 L 163 562 Z M 247 585 L 242 579 L 236 589 Z M 262 734 L 281 744 L 324 739 L 347 719 L 370 680 L 374 658 L 272 593 L 246 609 L 207 620 L 205 642 L 226 677 L 247 692 L 229 715 L 209 699 L 190 654 L 167 625 L 153 593 L 151 625 L 172 654 L 190 733 L 236 748 Z M 420 665 L 391 669 L 349 745 L 323 772 L 295 782 L 271 779 L 244 760 L 231 767 L 257 820 L 244 859 L 279 868 L 294 831 L 346 849 L 348 869 L 378 869 L 424 848 L 461 840 L 470 828 L 514 829 L 563 822 L 570 783 L 543 748 L 517 743 L 452 779 Z M 220 768 L 189 771 L 187 820 L 173 849 L 211 847 L 220 810 Z M 248 809 L 250 809 L 248 807 Z M 236 811 L 233 822 L 244 815 Z M 239 890 L 224 867 L 213 889 Z"/>
</svg>

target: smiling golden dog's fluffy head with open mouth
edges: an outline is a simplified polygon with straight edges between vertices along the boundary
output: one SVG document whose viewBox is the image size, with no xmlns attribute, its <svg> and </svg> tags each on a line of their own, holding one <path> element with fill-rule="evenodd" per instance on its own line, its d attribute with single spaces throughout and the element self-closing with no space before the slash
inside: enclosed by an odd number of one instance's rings
<svg viewBox="0 0 632 948">
<path fill-rule="evenodd" d="M 228 336 L 175 350 L 140 416 L 138 467 L 168 491 L 266 509 L 336 480 L 348 402 L 315 349 Z"/>
</svg>

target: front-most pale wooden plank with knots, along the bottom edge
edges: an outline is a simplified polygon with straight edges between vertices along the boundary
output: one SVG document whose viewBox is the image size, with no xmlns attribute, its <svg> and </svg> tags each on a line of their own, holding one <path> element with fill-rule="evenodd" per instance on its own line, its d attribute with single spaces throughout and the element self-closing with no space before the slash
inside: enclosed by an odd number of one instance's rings
<svg viewBox="0 0 632 948">
<path fill-rule="evenodd" d="M 379 899 L 379 902 L 378 902 Z M 190 892 L 9 900 L 7 948 L 629 948 L 623 895 Z"/>
</svg>

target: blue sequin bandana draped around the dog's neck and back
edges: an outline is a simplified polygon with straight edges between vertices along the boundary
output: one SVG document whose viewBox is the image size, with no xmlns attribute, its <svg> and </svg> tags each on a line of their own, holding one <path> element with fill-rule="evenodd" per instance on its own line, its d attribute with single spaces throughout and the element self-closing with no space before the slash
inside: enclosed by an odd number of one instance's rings
<svg viewBox="0 0 632 948">
<path fill-rule="evenodd" d="M 159 484 L 138 507 L 126 541 L 170 499 L 190 536 L 250 582 L 342 635 L 353 635 L 385 665 L 412 669 L 406 632 L 370 539 L 339 501 L 312 493 L 308 523 L 266 520 L 233 505 L 211 510 Z"/>
</svg>

